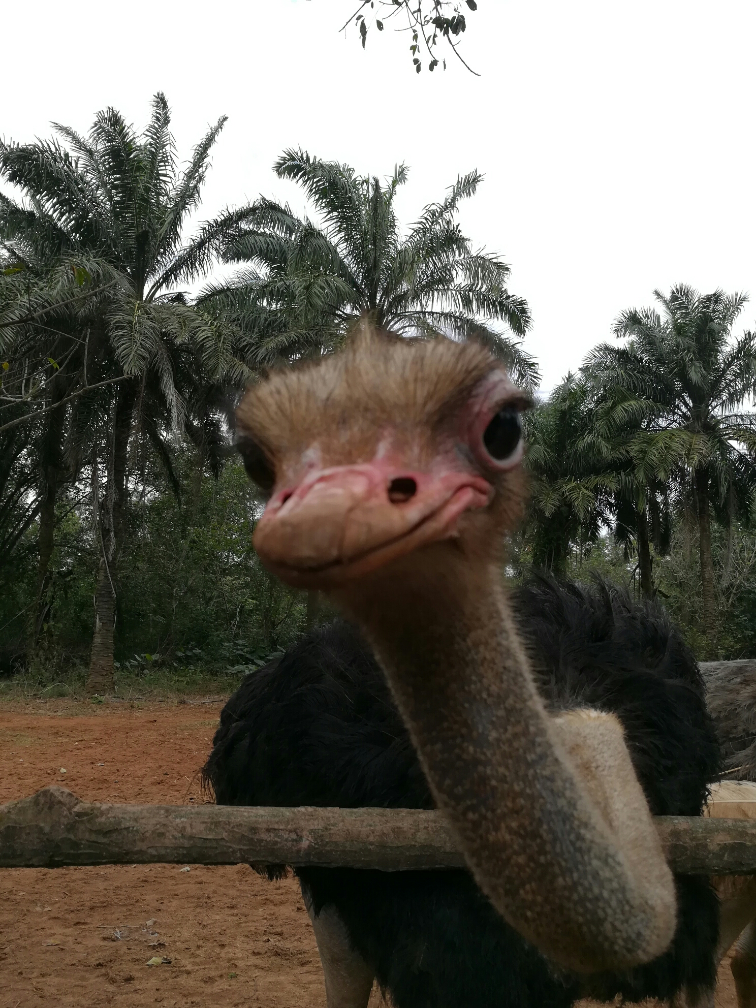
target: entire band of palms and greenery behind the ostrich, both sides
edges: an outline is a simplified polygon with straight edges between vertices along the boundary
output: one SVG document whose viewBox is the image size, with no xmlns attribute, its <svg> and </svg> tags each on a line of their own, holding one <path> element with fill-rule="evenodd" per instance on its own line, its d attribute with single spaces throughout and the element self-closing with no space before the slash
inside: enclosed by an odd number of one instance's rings
<svg viewBox="0 0 756 1008">
<path fill-rule="evenodd" d="M 58 128 L 68 146 L 0 144 L 19 194 L 0 195 L 0 673 L 29 688 L 228 685 L 327 617 L 251 545 L 232 407 L 270 364 L 367 317 L 479 340 L 537 385 L 528 305 L 459 225 L 478 172 L 405 229 L 403 166 L 382 182 L 289 150 L 276 171 L 312 220 L 260 199 L 187 239 L 222 125 L 182 171 L 159 95 L 141 135 L 110 109 L 87 138 Z M 700 657 L 756 655 L 756 337 L 734 335 L 741 295 L 655 296 L 526 417 L 507 576 L 604 577 L 661 602 Z"/>
</svg>

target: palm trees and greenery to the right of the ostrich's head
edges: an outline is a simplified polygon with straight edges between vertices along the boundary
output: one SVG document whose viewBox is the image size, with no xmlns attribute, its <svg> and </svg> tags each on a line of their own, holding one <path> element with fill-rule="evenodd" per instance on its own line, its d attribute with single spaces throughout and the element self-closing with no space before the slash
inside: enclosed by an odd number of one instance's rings
<svg viewBox="0 0 756 1008">
<path fill-rule="evenodd" d="M 637 556 L 640 593 L 666 600 L 702 657 L 743 653 L 756 337 L 732 335 L 742 295 L 679 285 L 655 297 L 663 317 L 623 312 L 624 344 L 599 345 L 528 419 L 528 558 L 566 574 L 577 555 L 588 571 L 597 548 L 606 561 L 611 529 L 624 559 Z"/>
</svg>

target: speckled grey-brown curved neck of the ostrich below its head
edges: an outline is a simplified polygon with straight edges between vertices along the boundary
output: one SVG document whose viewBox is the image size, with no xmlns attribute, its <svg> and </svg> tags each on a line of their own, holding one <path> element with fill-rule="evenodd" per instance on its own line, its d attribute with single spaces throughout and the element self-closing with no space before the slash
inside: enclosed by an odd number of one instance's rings
<svg viewBox="0 0 756 1008">
<path fill-rule="evenodd" d="M 461 545 L 430 550 L 337 599 L 371 638 L 479 885 L 569 969 L 649 961 L 673 934 L 674 889 L 619 726 L 632 820 L 647 818 L 631 827 L 642 849 L 630 853 L 544 712 L 498 563 Z"/>
</svg>

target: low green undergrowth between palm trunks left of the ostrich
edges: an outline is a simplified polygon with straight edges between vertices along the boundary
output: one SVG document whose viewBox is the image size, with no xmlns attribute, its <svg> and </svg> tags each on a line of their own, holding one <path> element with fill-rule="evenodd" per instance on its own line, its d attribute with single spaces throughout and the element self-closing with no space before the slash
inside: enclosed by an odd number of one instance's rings
<svg viewBox="0 0 756 1008">
<path fill-rule="evenodd" d="M 174 451 L 184 488 L 148 467 L 130 481 L 127 541 L 119 570 L 116 666 L 141 675 L 201 667 L 242 672 L 289 643 L 304 626 L 305 600 L 260 566 L 252 529 L 260 504 L 240 462 L 215 477 L 188 446 Z M 0 661 L 20 657 L 28 607 L 35 603 L 35 534 L 0 565 Z M 49 561 L 48 614 L 27 664 L 48 684 L 62 671 L 84 674 L 92 640 L 92 600 L 100 553 L 89 501 L 58 500 Z M 16 615 L 17 614 L 17 615 Z M 15 619 L 13 618 L 15 615 Z"/>
</svg>

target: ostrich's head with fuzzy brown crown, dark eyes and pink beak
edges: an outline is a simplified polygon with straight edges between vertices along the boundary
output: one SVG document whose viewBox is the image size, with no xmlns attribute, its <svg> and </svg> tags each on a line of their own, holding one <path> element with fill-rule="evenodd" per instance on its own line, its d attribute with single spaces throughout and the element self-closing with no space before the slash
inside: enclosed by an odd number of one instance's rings
<svg viewBox="0 0 756 1008">
<path fill-rule="evenodd" d="M 290 585 L 353 588 L 463 551 L 492 559 L 523 501 L 529 397 L 475 344 L 365 330 L 339 356 L 274 374 L 238 411 L 269 494 L 255 547 Z"/>
</svg>

